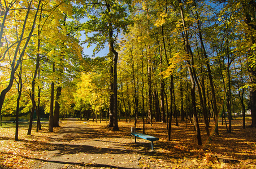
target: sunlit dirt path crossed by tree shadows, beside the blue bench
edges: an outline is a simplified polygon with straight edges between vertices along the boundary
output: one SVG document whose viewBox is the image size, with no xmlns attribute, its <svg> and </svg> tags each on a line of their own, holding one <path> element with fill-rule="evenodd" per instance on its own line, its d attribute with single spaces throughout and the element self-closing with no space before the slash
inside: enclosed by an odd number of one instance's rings
<svg viewBox="0 0 256 169">
<path fill-rule="evenodd" d="M 110 139 L 77 119 L 64 121 L 61 126 L 60 132 L 49 138 L 47 155 L 32 167 L 140 168 L 140 159 L 145 159 L 131 136 Z M 148 149 L 146 152 L 154 153 Z"/>
</svg>

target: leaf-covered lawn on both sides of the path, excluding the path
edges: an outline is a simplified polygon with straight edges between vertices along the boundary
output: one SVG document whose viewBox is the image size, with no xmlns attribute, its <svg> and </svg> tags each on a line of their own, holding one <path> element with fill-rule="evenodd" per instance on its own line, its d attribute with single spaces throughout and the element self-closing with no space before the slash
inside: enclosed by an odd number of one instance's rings
<svg viewBox="0 0 256 169">
<path fill-rule="evenodd" d="M 78 120 L 77 120 L 78 121 Z M 14 141 L 15 124 L 3 124 L 0 128 L 0 168 L 31 168 L 31 165 L 47 154 L 50 146 L 50 138 L 57 134 L 66 122 L 60 123 L 54 132 L 48 132 L 48 124 L 42 123 L 42 131 L 36 132 L 36 123 L 33 124 L 32 135 L 27 135 L 28 124 L 20 123 L 19 141 Z M 85 125 L 81 121 L 81 126 Z M 106 121 L 90 122 L 86 125 L 93 128 L 95 133 L 88 139 L 131 139 L 129 133 L 134 127 L 133 121 L 119 121 L 120 131 L 112 131 L 106 128 Z M 145 133 L 159 137 L 154 142 L 154 152 L 150 152 L 150 144 L 127 144 L 126 149 L 138 150 L 145 158 L 140 159 L 141 168 L 256 168 L 256 128 L 249 127 L 250 118 L 246 117 L 246 128 L 242 128 L 241 118 L 232 121 L 232 133 L 228 134 L 225 125 L 219 122 L 219 136 L 212 135 L 211 140 L 205 134 L 203 124 L 200 123 L 203 145 L 197 145 L 196 132 L 191 123 L 180 122 L 175 125 L 173 119 L 171 141 L 167 140 L 166 123 L 145 124 Z M 187 127 L 186 127 L 187 126 Z M 214 124 L 210 123 L 210 131 Z M 142 121 L 139 119 L 137 128 L 142 129 Z M 137 132 L 142 132 L 137 130 Z M 73 140 L 76 141 L 76 140 Z M 138 140 L 140 142 L 142 140 Z M 143 141 L 142 141 L 143 142 Z M 81 166 L 80 166 L 81 167 Z"/>
</svg>

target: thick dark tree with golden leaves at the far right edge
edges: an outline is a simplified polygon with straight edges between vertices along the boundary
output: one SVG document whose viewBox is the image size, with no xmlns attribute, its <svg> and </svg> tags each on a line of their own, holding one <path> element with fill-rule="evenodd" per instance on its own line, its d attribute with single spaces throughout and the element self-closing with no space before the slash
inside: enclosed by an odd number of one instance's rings
<svg viewBox="0 0 256 169">
<path fill-rule="evenodd" d="M 223 21 L 223 15 L 229 14 L 229 25 L 236 26 L 235 32 L 242 38 L 237 40 L 238 51 L 241 55 L 247 56 L 248 71 L 250 75 L 250 109 L 251 126 L 256 127 L 256 64 L 255 64 L 255 30 L 256 30 L 256 2 L 253 0 L 245 1 L 219 1 L 223 5 L 220 20 Z M 230 17 L 232 16 L 232 17 Z M 224 19 L 227 17 L 224 17 Z M 240 22 L 237 22 L 239 20 Z"/>
</svg>

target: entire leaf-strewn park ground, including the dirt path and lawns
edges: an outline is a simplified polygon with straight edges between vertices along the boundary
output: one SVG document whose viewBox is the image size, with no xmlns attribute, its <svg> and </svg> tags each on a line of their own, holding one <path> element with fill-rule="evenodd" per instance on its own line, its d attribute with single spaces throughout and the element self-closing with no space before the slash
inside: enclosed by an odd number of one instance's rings
<svg viewBox="0 0 256 169">
<path fill-rule="evenodd" d="M 247 118 L 246 118 L 247 119 Z M 219 122 L 220 135 L 206 136 L 201 123 L 203 146 L 197 145 L 191 123 L 172 126 L 167 141 L 165 123 L 146 124 L 145 133 L 159 137 L 151 150 L 150 141 L 130 135 L 133 121 L 119 121 L 120 131 L 106 128 L 106 122 L 84 123 L 65 119 L 54 132 L 27 135 L 27 123 L 20 123 L 19 141 L 14 141 L 15 126 L 3 123 L 0 130 L 0 168 L 255 168 L 256 128 L 242 128 L 240 118 L 232 123 L 232 133 Z M 224 123 L 225 124 L 225 123 Z M 33 124 L 36 127 L 36 124 Z M 141 119 L 137 128 L 142 128 Z M 211 122 L 211 131 L 213 123 Z M 142 132 L 138 130 L 138 132 Z M 209 140 L 209 141 L 207 141 Z"/>
</svg>

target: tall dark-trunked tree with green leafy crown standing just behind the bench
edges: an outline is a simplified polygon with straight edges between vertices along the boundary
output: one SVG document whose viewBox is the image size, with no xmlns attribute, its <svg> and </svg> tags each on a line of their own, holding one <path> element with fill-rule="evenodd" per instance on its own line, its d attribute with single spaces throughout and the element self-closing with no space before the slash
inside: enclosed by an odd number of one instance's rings
<svg viewBox="0 0 256 169">
<path fill-rule="evenodd" d="M 113 58 L 113 64 L 110 61 L 110 67 L 113 66 L 113 95 L 114 95 L 114 128 L 113 130 L 119 130 L 118 127 L 118 86 L 117 86 L 117 63 L 118 52 L 116 52 L 116 38 L 118 34 L 123 30 L 127 31 L 127 25 L 129 23 L 127 19 L 129 1 L 87 1 L 85 10 L 88 21 L 83 24 L 85 30 L 86 40 L 85 42 L 90 45 L 97 43 L 94 48 L 94 54 L 104 47 L 105 43 L 109 44 L 109 56 Z M 97 32 L 93 34 L 93 37 L 89 37 L 89 33 Z M 110 59 L 111 60 L 111 59 Z M 112 99 L 110 99 L 112 100 Z M 110 101 L 111 103 L 111 101 Z"/>
</svg>

